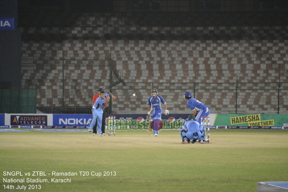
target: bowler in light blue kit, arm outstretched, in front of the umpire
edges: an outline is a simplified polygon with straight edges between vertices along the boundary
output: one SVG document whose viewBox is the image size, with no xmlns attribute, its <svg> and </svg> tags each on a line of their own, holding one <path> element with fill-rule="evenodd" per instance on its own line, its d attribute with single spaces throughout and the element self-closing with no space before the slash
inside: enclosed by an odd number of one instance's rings
<svg viewBox="0 0 288 192">
<path fill-rule="evenodd" d="M 106 98 L 105 98 L 106 96 Z M 93 129 L 95 123 L 97 123 L 97 132 L 99 136 L 102 136 L 102 131 L 101 131 L 101 126 L 102 126 L 102 115 L 103 115 L 103 110 L 108 104 L 110 97 L 109 93 L 106 93 L 104 91 L 100 92 L 100 97 L 98 97 L 92 107 L 92 121 L 90 122 L 90 125 L 88 127 L 88 131 L 91 132 Z M 107 102 L 105 103 L 105 100 Z M 93 133 L 93 135 L 96 135 Z"/>
</svg>

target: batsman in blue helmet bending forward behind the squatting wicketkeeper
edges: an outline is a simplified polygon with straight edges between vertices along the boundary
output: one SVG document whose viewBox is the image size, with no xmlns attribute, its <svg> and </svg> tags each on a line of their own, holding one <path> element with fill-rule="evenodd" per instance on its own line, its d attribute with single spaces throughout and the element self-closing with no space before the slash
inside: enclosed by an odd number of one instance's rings
<svg viewBox="0 0 288 192">
<path fill-rule="evenodd" d="M 185 92 L 184 99 L 187 101 L 187 106 L 193 111 L 196 121 L 201 124 L 201 117 L 208 117 L 209 108 L 197 99 L 192 98 L 192 94 L 189 91 Z"/>
</svg>

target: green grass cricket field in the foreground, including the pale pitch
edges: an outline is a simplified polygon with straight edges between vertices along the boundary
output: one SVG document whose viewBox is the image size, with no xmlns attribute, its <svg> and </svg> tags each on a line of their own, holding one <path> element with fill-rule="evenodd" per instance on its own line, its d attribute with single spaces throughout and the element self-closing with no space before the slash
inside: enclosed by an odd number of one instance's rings
<svg viewBox="0 0 288 192">
<path fill-rule="evenodd" d="M 257 182 L 288 181 L 288 130 L 210 130 L 208 144 L 181 144 L 178 130 L 158 137 L 147 131 L 0 132 L 0 191 L 257 191 Z M 21 171 L 23 176 L 3 176 Z M 44 171 L 46 176 L 25 176 Z M 52 176 L 77 172 L 77 176 Z M 80 176 L 79 171 L 89 172 Z M 104 172 L 116 176 L 103 176 Z M 91 176 L 101 172 L 101 176 Z M 50 174 L 50 175 L 48 175 Z M 41 178 L 50 183 L 3 183 L 3 178 Z M 71 183 L 51 183 L 71 178 Z M 14 185 L 4 189 L 3 184 Z M 25 190 L 25 191 L 26 191 Z M 29 190 L 28 190 L 29 191 Z"/>
</svg>

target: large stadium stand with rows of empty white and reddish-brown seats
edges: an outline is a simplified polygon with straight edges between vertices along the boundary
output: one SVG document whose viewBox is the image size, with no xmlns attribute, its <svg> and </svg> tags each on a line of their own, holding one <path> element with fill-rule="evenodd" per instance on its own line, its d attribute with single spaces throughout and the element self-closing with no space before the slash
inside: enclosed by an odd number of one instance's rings
<svg viewBox="0 0 288 192">
<path fill-rule="evenodd" d="M 123 14 L 83 14 L 71 27 L 20 27 L 22 87 L 38 90 L 39 107 L 89 107 L 98 87 L 109 90 L 111 57 L 126 83 L 113 87 L 113 113 L 147 111 L 152 87 L 170 113 L 189 113 L 186 90 L 211 113 L 287 113 L 287 26 L 135 22 Z"/>
</svg>

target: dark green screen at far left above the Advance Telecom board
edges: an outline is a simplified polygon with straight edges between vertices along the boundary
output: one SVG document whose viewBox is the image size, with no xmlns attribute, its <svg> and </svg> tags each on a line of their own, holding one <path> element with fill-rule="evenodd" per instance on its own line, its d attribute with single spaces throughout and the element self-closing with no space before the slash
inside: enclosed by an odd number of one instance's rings
<svg viewBox="0 0 288 192">
<path fill-rule="evenodd" d="M 0 113 L 36 113 L 35 89 L 0 89 Z"/>
</svg>

